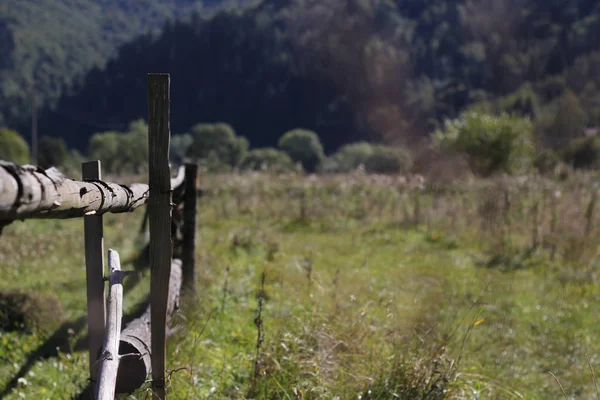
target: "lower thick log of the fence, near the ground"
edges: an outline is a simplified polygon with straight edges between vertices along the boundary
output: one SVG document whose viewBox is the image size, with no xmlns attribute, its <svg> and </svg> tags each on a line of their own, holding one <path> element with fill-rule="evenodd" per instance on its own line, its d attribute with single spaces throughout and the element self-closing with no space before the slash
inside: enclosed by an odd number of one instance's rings
<svg viewBox="0 0 600 400">
<path fill-rule="evenodd" d="M 170 318 L 179 307 L 181 276 L 181 260 L 175 259 L 171 263 L 167 318 Z M 152 372 L 150 323 L 150 306 L 148 306 L 141 317 L 131 321 L 121 332 L 117 393 L 132 393 L 146 382 Z"/>
</svg>

